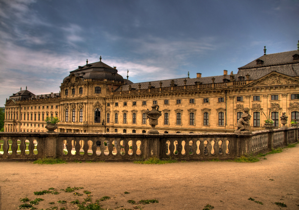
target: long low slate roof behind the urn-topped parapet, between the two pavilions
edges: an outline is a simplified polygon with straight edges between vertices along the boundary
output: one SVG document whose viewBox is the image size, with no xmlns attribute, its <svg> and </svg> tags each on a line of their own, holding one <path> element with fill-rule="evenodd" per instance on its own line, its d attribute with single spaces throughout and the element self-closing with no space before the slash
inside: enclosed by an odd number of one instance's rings
<svg viewBox="0 0 299 210">
<path fill-rule="evenodd" d="M 235 74 L 236 76 L 236 74 Z M 202 77 L 202 78 L 177 78 L 177 79 L 166 79 L 166 80 L 157 80 L 157 81 L 148 81 L 148 82 L 140 82 L 140 83 L 133 83 L 131 84 L 132 89 L 138 90 L 138 85 L 141 84 L 141 89 L 148 89 L 149 82 L 151 83 L 152 88 L 158 88 L 160 87 L 160 81 L 162 82 L 162 87 L 170 87 L 170 83 L 172 80 L 174 80 L 174 84 L 176 86 L 184 86 L 184 80 L 187 80 L 186 85 L 195 85 L 195 82 L 202 82 L 202 84 L 210 84 L 212 82 L 212 78 L 215 78 L 215 83 L 221 83 L 223 82 L 223 79 L 230 79 L 230 75 L 220 75 L 220 76 L 211 76 L 211 77 Z M 122 91 L 129 90 L 129 85 L 123 85 Z M 115 89 L 114 92 L 120 91 L 120 87 Z"/>
</svg>

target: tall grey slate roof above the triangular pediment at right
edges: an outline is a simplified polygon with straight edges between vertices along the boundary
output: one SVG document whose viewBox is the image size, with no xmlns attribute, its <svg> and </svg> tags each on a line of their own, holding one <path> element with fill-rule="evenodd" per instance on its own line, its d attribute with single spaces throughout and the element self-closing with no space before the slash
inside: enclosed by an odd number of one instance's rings
<svg viewBox="0 0 299 210">
<path fill-rule="evenodd" d="M 263 55 L 260 58 L 257 58 L 264 61 L 262 65 L 256 65 L 256 59 L 249 64 L 240 67 L 237 76 L 235 77 L 235 81 L 238 81 L 239 76 L 245 76 L 247 74 L 250 75 L 249 80 L 256 80 L 269 74 L 271 71 L 277 71 L 292 77 L 299 76 L 299 60 L 293 61 L 293 55 L 295 54 L 299 54 L 299 51 L 293 50 L 283 53 Z"/>
</svg>

